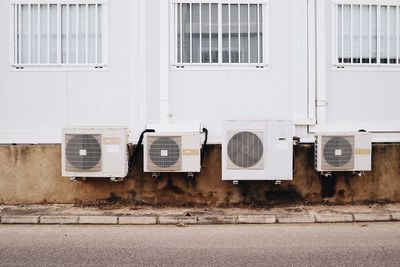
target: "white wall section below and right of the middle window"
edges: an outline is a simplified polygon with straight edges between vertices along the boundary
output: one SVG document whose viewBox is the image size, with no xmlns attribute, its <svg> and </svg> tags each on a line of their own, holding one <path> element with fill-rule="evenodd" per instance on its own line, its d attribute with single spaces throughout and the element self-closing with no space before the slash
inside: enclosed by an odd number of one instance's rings
<svg viewBox="0 0 400 267">
<path fill-rule="evenodd" d="M 216 143 L 226 119 L 307 121 L 306 3 L 269 1 L 270 61 L 265 69 L 171 66 L 171 121 L 202 122 Z"/>
</svg>

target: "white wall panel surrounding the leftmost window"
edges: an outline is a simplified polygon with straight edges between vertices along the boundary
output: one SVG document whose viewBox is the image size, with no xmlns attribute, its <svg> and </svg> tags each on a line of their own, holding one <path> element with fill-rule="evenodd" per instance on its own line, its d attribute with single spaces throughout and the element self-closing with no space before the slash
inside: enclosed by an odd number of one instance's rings
<svg viewBox="0 0 400 267">
<path fill-rule="evenodd" d="M 9 1 L 0 1 L 0 34 L 10 36 Z M 0 142 L 53 143 L 66 126 L 130 126 L 139 131 L 139 2 L 108 1 L 103 70 L 12 70 L 0 42 Z"/>
</svg>

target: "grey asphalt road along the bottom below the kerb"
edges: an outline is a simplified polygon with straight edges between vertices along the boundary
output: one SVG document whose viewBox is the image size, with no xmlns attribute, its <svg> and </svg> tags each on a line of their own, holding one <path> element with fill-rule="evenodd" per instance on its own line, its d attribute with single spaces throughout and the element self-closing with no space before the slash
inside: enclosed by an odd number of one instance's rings
<svg viewBox="0 0 400 267">
<path fill-rule="evenodd" d="M 1 266 L 400 266 L 400 223 L 0 226 Z"/>
</svg>

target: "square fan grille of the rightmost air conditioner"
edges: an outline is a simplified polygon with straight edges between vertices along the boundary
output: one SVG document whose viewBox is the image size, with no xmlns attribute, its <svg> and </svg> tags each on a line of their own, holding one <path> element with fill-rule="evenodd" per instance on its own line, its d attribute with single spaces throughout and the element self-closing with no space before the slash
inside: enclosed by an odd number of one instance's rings
<svg viewBox="0 0 400 267">
<path fill-rule="evenodd" d="M 322 169 L 354 169 L 354 136 L 323 136 L 322 148 Z"/>
</svg>

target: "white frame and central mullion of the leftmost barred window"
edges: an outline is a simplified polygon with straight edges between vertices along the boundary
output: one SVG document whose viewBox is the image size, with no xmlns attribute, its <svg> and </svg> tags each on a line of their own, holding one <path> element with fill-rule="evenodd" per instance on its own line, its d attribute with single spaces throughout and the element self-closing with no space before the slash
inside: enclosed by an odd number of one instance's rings
<svg viewBox="0 0 400 267">
<path fill-rule="evenodd" d="M 61 5 L 102 5 L 102 62 L 99 63 L 61 63 L 61 21 L 57 21 L 57 63 L 18 63 L 16 61 L 16 14 L 14 5 L 57 5 L 58 16 Z M 68 11 L 69 12 L 69 11 Z M 10 14 L 10 68 L 12 71 L 100 71 L 107 70 L 108 67 L 108 0 L 11 0 L 9 5 Z M 97 12 L 96 12 L 97 16 Z M 48 48 L 49 49 L 49 48 Z M 98 44 L 96 43 L 96 50 Z M 97 58 L 97 55 L 96 55 Z M 97 59 L 96 59 L 97 60 Z"/>
</svg>

